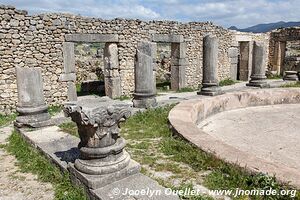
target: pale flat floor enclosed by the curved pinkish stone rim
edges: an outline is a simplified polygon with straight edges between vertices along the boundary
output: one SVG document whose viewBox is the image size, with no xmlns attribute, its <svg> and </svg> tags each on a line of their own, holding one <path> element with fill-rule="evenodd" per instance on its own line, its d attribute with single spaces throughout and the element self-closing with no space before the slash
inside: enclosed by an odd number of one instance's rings
<svg viewBox="0 0 300 200">
<path fill-rule="evenodd" d="M 300 169 L 300 105 L 249 107 L 216 114 L 199 128 L 241 151 Z"/>
</svg>

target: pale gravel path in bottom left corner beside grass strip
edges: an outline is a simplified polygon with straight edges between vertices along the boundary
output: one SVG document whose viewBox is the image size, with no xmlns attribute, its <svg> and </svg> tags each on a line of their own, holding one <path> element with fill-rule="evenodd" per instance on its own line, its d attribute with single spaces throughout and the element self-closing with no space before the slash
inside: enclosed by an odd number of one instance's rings
<svg viewBox="0 0 300 200">
<path fill-rule="evenodd" d="M 12 127 L 0 128 L 0 144 L 5 143 Z M 42 183 L 31 173 L 22 173 L 17 160 L 0 149 L 0 200 L 50 200 L 54 199 L 50 183 Z"/>
</svg>

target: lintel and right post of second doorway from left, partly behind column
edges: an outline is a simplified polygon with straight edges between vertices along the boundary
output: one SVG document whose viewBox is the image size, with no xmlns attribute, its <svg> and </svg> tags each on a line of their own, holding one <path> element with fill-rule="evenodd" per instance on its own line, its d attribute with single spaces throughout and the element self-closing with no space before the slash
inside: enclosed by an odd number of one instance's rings
<svg viewBox="0 0 300 200">
<path fill-rule="evenodd" d="M 171 43 L 171 90 L 184 88 L 185 69 L 188 66 L 187 45 L 182 35 L 153 34 L 152 42 Z"/>
</svg>

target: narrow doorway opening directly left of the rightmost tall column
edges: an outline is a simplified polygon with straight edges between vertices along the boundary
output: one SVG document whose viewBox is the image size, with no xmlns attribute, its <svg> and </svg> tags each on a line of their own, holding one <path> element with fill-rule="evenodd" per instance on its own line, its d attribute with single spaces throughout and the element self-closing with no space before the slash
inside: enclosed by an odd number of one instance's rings
<svg viewBox="0 0 300 200">
<path fill-rule="evenodd" d="M 237 63 L 237 80 L 248 81 L 249 78 L 249 42 L 239 42 Z"/>
</svg>

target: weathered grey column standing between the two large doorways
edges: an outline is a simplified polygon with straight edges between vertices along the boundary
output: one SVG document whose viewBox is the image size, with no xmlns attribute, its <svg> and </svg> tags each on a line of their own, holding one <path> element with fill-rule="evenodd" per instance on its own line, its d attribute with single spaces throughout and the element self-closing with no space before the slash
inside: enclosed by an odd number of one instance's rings
<svg viewBox="0 0 300 200">
<path fill-rule="evenodd" d="M 156 44 L 152 42 L 140 42 L 138 44 L 135 61 L 134 107 L 149 108 L 156 105 L 153 77 L 155 46 Z"/>
</svg>

